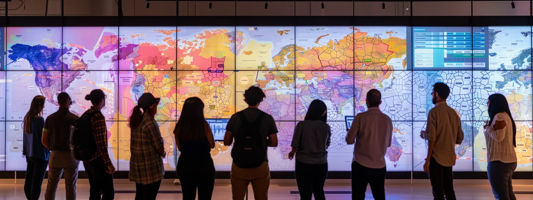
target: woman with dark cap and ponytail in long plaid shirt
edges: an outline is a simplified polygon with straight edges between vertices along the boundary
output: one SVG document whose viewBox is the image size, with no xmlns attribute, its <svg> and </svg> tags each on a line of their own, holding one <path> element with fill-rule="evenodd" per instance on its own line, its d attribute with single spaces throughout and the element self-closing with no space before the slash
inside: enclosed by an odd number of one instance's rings
<svg viewBox="0 0 533 200">
<path fill-rule="evenodd" d="M 159 100 L 142 94 L 130 116 L 130 181 L 135 182 L 135 200 L 155 200 L 165 174 L 165 143 L 154 119 Z"/>
</svg>

